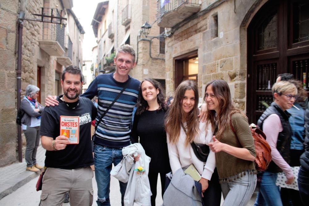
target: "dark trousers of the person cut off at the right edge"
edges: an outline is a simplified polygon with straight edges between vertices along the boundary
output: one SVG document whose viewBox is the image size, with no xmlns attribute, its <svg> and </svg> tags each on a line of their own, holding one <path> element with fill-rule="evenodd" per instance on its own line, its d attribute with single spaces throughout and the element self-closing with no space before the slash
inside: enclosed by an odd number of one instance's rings
<svg viewBox="0 0 309 206">
<path fill-rule="evenodd" d="M 300 166 L 298 172 L 298 189 L 304 205 L 309 205 L 309 171 Z"/>
</svg>

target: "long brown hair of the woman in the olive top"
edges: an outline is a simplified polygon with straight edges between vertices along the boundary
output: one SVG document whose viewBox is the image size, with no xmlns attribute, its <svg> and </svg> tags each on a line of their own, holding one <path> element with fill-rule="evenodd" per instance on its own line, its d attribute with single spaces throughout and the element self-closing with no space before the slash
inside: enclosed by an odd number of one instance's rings
<svg viewBox="0 0 309 206">
<path fill-rule="evenodd" d="M 213 132 L 215 132 L 216 126 L 218 125 L 216 138 L 220 140 L 222 138 L 223 132 L 229 128 L 231 115 L 234 113 L 241 113 L 243 116 L 245 115 L 239 109 L 236 109 L 233 106 L 231 91 L 226 81 L 218 79 L 209 82 L 205 87 L 205 93 L 207 87 L 210 85 L 212 86 L 215 97 L 218 99 L 220 110 L 218 114 L 216 114 L 216 111 L 214 110 L 208 110 L 206 121 L 207 123 L 211 123 Z M 205 95 L 204 100 L 206 101 Z"/>
</svg>

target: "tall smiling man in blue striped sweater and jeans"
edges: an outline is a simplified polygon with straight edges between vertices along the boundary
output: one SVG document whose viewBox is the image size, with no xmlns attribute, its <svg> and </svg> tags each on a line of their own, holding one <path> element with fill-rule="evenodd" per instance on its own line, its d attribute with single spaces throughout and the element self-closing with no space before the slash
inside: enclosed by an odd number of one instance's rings
<svg viewBox="0 0 309 206">
<path fill-rule="evenodd" d="M 98 75 L 81 96 L 92 99 L 98 96 L 98 116 L 101 115 L 121 92 L 127 81 L 129 85 L 108 110 L 97 127 L 94 140 L 95 179 L 98 185 L 98 205 L 110 205 L 109 187 L 112 164 L 117 165 L 123 158 L 122 148 L 130 144 L 130 124 L 133 108 L 138 99 L 140 82 L 129 76 L 129 72 L 136 65 L 135 51 L 130 45 L 121 46 L 114 58 L 116 72 Z M 57 105 L 52 97 L 46 98 L 46 106 Z M 125 195 L 126 183 L 119 182 L 121 204 Z"/>
</svg>

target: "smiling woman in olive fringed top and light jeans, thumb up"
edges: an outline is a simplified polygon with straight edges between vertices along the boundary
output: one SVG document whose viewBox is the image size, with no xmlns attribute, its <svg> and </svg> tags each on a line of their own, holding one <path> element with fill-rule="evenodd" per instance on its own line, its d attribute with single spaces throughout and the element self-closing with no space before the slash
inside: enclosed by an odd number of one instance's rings
<svg viewBox="0 0 309 206">
<path fill-rule="evenodd" d="M 207 122 L 213 127 L 213 142 L 224 198 L 223 206 L 247 205 L 256 187 L 256 152 L 247 117 L 233 106 L 227 82 L 213 80 L 206 85 Z M 231 129 L 231 125 L 235 133 Z"/>
</svg>

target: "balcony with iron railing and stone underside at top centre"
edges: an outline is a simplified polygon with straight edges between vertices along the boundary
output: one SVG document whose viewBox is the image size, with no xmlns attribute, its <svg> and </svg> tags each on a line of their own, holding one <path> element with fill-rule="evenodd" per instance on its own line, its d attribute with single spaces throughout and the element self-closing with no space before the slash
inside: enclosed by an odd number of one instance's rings
<svg viewBox="0 0 309 206">
<path fill-rule="evenodd" d="M 157 23 L 159 27 L 174 27 L 201 9 L 199 0 L 157 0 Z"/>
</svg>

